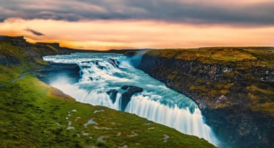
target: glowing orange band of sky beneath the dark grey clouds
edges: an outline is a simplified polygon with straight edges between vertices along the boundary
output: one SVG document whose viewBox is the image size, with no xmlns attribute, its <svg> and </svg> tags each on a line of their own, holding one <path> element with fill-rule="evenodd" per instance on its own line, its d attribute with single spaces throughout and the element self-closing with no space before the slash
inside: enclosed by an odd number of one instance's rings
<svg viewBox="0 0 274 148">
<path fill-rule="evenodd" d="M 41 31 L 34 36 L 26 28 Z M 28 41 L 60 42 L 72 48 L 192 48 L 202 46 L 273 46 L 274 27 L 207 26 L 161 21 L 54 21 L 9 18 L 0 23 L 3 35 Z"/>
</svg>

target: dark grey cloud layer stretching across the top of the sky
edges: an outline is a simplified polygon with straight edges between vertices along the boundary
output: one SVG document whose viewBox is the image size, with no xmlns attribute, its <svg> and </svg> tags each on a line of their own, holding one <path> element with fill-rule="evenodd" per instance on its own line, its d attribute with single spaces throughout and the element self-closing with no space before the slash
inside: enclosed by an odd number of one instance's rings
<svg viewBox="0 0 274 148">
<path fill-rule="evenodd" d="M 1 16 L 65 21 L 153 20 L 178 23 L 273 26 L 273 0 L 0 1 Z M 16 11 L 14 11 L 16 10 Z"/>
</svg>

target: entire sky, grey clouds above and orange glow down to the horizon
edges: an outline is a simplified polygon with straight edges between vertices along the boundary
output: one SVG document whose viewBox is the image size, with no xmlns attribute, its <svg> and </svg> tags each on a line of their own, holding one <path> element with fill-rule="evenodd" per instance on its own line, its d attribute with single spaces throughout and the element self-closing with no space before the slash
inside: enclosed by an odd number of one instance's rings
<svg viewBox="0 0 274 148">
<path fill-rule="evenodd" d="M 274 46 L 274 0 L 0 0 L 0 35 L 81 49 Z"/>
</svg>

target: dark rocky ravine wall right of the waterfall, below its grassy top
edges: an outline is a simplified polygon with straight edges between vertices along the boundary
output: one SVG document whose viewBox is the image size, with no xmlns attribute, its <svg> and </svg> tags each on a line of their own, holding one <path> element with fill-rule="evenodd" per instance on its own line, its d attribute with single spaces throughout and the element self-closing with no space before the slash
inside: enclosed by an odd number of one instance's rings
<svg viewBox="0 0 274 148">
<path fill-rule="evenodd" d="M 242 70 L 237 65 L 147 53 L 138 68 L 196 101 L 223 147 L 274 147 L 274 117 L 256 106 L 273 101 L 274 68 Z M 257 91 L 260 88 L 270 93 Z M 253 97 L 260 100 L 255 102 Z"/>
</svg>

